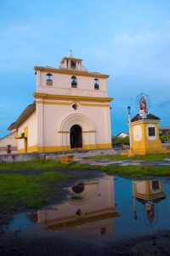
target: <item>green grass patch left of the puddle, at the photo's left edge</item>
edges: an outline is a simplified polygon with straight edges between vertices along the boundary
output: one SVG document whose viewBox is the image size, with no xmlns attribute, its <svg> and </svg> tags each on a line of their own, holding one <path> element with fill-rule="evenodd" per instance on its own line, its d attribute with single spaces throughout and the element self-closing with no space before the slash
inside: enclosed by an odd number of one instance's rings
<svg viewBox="0 0 170 256">
<path fill-rule="evenodd" d="M 54 181 L 65 177 L 68 178 L 60 172 L 44 172 L 39 175 L 0 174 L 0 205 L 25 205 L 36 209 L 42 207 L 50 196 Z"/>
</svg>

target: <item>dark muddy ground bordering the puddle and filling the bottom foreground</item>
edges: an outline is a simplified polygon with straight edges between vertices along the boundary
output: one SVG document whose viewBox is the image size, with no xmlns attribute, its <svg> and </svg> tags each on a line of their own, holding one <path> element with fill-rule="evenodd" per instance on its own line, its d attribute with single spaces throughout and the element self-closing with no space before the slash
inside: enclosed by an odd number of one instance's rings
<svg viewBox="0 0 170 256">
<path fill-rule="evenodd" d="M 43 172 L 43 171 L 41 171 Z M 66 183 L 57 183 L 59 195 L 53 195 L 49 204 L 65 200 L 65 187 L 71 186 L 78 180 L 99 177 L 102 174 L 91 170 L 60 170 L 59 172 L 72 173 Z M 57 256 L 97 256 L 97 255 L 170 255 L 170 231 L 159 230 L 156 236 L 144 236 L 125 240 L 112 241 L 105 236 L 98 239 L 93 237 L 71 236 L 69 232 L 39 232 L 33 230 L 8 230 L 9 223 L 16 213 L 29 212 L 24 206 L 14 208 L 5 205 L 0 209 L 0 255 L 57 255 Z"/>
</svg>

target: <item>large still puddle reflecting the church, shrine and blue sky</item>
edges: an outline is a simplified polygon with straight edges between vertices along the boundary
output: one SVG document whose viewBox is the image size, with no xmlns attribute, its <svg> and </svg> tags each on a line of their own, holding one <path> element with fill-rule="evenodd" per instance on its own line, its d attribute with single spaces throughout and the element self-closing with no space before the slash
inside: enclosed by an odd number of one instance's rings
<svg viewBox="0 0 170 256">
<path fill-rule="evenodd" d="M 70 234 L 72 239 L 108 241 L 170 230 L 170 179 L 103 177 L 66 188 L 67 201 L 16 215 L 8 232 Z M 28 232 L 29 231 L 29 232 Z M 33 235 L 32 235 L 33 236 Z"/>
</svg>

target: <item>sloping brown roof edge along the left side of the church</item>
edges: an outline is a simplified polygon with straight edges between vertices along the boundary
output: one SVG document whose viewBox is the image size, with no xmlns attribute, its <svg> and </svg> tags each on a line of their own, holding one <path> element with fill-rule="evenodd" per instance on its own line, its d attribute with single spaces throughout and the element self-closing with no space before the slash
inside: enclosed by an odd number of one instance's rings
<svg viewBox="0 0 170 256">
<path fill-rule="evenodd" d="M 28 105 L 28 107 L 20 114 L 20 117 L 14 123 L 9 125 L 8 131 L 18 129 L 18 127 L 22 125 L 34 111 L 36 111 L 36 102 L 33 102 L 32 104 Z"/>
</svg>

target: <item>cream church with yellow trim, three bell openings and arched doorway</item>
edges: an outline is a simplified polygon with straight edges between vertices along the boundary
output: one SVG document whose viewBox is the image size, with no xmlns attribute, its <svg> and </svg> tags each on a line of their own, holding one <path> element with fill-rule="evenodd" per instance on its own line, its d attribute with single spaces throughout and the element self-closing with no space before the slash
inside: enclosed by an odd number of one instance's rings
<svg viewBox="0 0 170 256">
<path fill-rule="evenodd" d="M 18 153 L 112 148 L 109 75 L 89 73 L 72 55 L 59 68 L 34 67 L 35 102 L 8 127 Z"/>
</svg>

